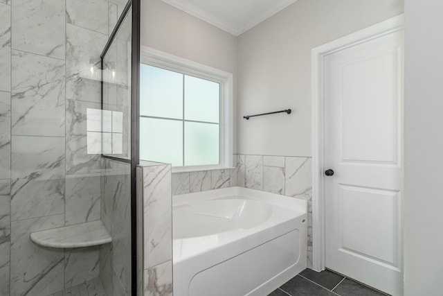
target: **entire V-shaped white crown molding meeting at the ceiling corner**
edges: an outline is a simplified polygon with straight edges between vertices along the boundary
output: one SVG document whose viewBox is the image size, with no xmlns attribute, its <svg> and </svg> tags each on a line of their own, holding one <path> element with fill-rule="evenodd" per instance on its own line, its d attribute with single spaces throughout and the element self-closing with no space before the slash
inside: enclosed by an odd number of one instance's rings
<svg viewBox="0 0 443 296">
<path fill-rule="evenodd" d="M 273 9 L 264 12 L 262 15 L 258 15 L 251 21 L 247 21 L 245 24 L 243 24 L 240 27 L 235 26 L 234 24 L 230 24 L 228 21 L 224 21 L 223 19 L 216 17 L 215 15 L 212 15 L 209 12 L 206 12 L 205 10 L 202 10 L 201 8 L 198 8 L 197 6 L 188 3 L 188 1 L 186 0 L 162 0 L 162 1 L 190 15 L 193 15 L 194 17 L 197 17 L 202 21 L 206 21 L 207 23 L 212 24 L 213 26 L 216 26 L 217 28 L 220 28 L 223 31 L 226 31 L 235 36 L 239 36 L 240 34 L 248 31 L 250 28 L 253 28 L 257 24 L 260 24 L 265 19 L 271 17 L 272 15 L 275 15 L 275 13 L 279 12 L 283 8 L 286 8 L 287 6 L 296 2 L 297 0 L 282 1 L 280 5 L 273 7 Z"/>
</svg>

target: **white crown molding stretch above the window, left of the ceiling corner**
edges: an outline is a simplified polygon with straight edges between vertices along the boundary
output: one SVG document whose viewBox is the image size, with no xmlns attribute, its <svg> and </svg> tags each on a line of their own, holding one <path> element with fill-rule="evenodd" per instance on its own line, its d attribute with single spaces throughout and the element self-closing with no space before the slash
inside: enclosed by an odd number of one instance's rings
<svg viewBox="0 0 443 296">
<path fill-rule="evenodd" d="M 211 15 L 209 12 L 206 12 L 205 10 L 200 9 L 197 6 L 192 5 L 187 1 L 183 0 L 162 0 L 162 1 L 170 4 L 171 6 L 174 6 L 175 8 L 178 8 L 179 10 L 183 10 L 184 12 L 187 12 L 190 15 L 195 16 L 198 19 L 201 19 L 202 21 L 206 21 L 207 23 L 216 26 L 217 28 L 221 28 L 221 30 L 226 31 L 232 35 L 235 36 L 239 35 L 238 28 L 236 26 L 233 26 L 227 21 L 223 21 L 219 17 L 215 17 L 215 15 Z"/>
</svg>

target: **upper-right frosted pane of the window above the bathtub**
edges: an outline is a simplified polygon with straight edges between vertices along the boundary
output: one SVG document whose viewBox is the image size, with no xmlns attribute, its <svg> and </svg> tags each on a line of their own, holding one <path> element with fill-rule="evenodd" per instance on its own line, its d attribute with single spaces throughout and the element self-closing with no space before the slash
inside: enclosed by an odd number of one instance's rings
<svg viewBox="0 0 443 296">
<path fill-rule="evenodd" d="M 185 75 L 185 119 L 219 123 L 220 85 Z"/>
</svg>

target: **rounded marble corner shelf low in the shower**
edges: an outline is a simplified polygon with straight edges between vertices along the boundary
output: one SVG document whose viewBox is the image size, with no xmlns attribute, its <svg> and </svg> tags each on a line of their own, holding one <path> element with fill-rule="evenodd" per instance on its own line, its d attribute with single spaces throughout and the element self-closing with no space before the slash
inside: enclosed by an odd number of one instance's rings
<svg viewBox="0 0 443 296">
<path fill-rule="evenodd" d="M 89 247 L 111 243 L 111 236 L 100 220 L 33 232 L 30 234 L 30 239 L 37 245 L 57 248 Z"/>
</svg>

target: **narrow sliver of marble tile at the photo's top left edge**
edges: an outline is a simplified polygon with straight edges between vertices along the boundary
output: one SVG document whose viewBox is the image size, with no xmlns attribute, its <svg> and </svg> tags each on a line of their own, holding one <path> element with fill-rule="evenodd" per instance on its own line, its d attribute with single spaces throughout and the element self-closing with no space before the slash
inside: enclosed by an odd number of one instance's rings
<svg viewBox="0 0 443 296">
<path fill-rule="evenodd" d="M 10 4 L 10 1 L 6 0 Z M 5 0 L 1 2 L 5 3 Z M 0 3 L 0 91 L 11 89 L 11 7 Z"/>
</svg>

